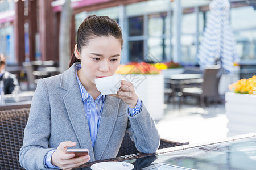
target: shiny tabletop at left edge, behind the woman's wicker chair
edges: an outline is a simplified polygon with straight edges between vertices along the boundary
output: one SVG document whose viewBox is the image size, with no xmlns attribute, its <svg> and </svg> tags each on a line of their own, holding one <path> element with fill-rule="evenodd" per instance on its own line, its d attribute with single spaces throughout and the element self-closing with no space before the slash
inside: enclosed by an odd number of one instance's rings
<svg viewBox="0 0 256 170">
<path fill-rule="evenodd" d="M 0 111 L 20 108 L 30 108 L 34 91 L 20 92 L 13 95 L 4 95 L 0 100 Z"/>
</svg>

